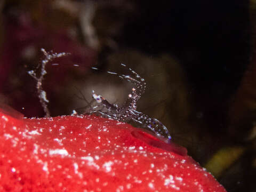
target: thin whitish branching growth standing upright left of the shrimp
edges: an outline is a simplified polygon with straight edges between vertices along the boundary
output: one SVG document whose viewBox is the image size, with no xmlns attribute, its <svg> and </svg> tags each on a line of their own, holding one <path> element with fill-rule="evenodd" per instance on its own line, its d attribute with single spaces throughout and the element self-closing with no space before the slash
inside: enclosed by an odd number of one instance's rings
<svg viewBox="0 0 256 192">
<path fill-rule="evenodd" d="M 37 71 L 35 70 L 28 71 L 28 74 L 31 75 L 34 79 L 36 79 L 37 81 L 36 89 L 37 89 L 39 101 L 41 102 L 41 105 L 44 109 L 45 116 L 50 117 L 50 111 L 47 108 L 47 103 L 49 102 L 49 100 L 47 100 L 46 92 L 43 90 L 43 79 L 44 79 L 44 76 L 47 74 L 45 67 L 46 67 L 46 64 L 52 61 L 53 59 L 67 56 L 70 53 L 65 53 L 65 52 L 53 53 L 52 51 L 46 52 L 43 48 L 41 49 L 41 51 L 44 53 L 45 58 L 41 61 L 41 63 L 39 63 L 37 67 L 37 68 L 41 67 L 41 71 L 39 75 L 37 75 L 36 73 Z"/>
</svg>

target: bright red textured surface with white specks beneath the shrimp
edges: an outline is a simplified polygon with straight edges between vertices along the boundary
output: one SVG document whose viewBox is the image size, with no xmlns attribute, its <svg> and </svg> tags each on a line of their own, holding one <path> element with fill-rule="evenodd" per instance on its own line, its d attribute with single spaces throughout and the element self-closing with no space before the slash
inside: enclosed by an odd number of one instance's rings
<svg viewBox="0 0 256 192">
<path fill-rule="evenodd" d="M 226 191 L 186 149 L 129 124 L 15 117 L 0 110 L 0 191 Z"/>
</svg>

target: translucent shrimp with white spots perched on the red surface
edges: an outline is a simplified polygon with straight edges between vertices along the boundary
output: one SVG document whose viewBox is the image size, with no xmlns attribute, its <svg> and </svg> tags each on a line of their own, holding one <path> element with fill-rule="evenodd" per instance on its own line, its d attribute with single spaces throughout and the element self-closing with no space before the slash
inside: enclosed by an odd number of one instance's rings
<svg viewBox="0 0 256 192">
<path fill-rule="evenodd" d="M 123 67 L 126 65 L 121 64 Z M 138 73 L 129 68 L 133 76 L 130 75 L 119 75 L 108 71 L 110 74 L 118 75 L 120 78 L 125 79 L 128 82 L 131 82 L 134 87 L 132 87 L 132 92 L 128 95 L 127 100 L 123 103 L 121 107 L 118 105 L 109 103 L 101 95 L 92 91 L 93 99 L 98 103 L 97 106 L 93 107 L 91 113 L 99 113 L 104 117 L 115 119 L 120 122 L 129 122 L 133 121 L 141 124 L 142 128 L 149 129 L 153 131 L 158 137 L 167 136 L 169 141 L 171 140 L 171 135 L 167 130 L 166 126 L 163 125 L 158 119 L 151 118 L 140 111 L 137 111 L 137 102 L 141 98 L 141 95 L 145 92 L 146 82 Z M 102 111 L 102 108 L 99 110 L 98 107 L 103 107 L 106 110 Z"/>
</svg>

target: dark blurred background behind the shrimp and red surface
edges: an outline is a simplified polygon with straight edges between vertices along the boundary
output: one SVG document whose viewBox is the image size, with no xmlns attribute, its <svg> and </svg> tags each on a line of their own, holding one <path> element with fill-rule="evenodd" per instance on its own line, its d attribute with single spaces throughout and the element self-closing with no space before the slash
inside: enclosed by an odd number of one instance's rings
<svg viewBox="0 0 256 192">
<path fill-rule="evenodd" d="M 42 47 L 71 53 L 46 66 L 52 116 L 82 111 L 92 90 L 123 103 L 131 85 L 106 71 L 129 74 L 124 63 L 147 82 L 139 111 L 227 191 L 256 191 L 255 9 L 255 0 L 2 0 L 1 102 L 45 115 L 27 73 Z"/>
</svg>

